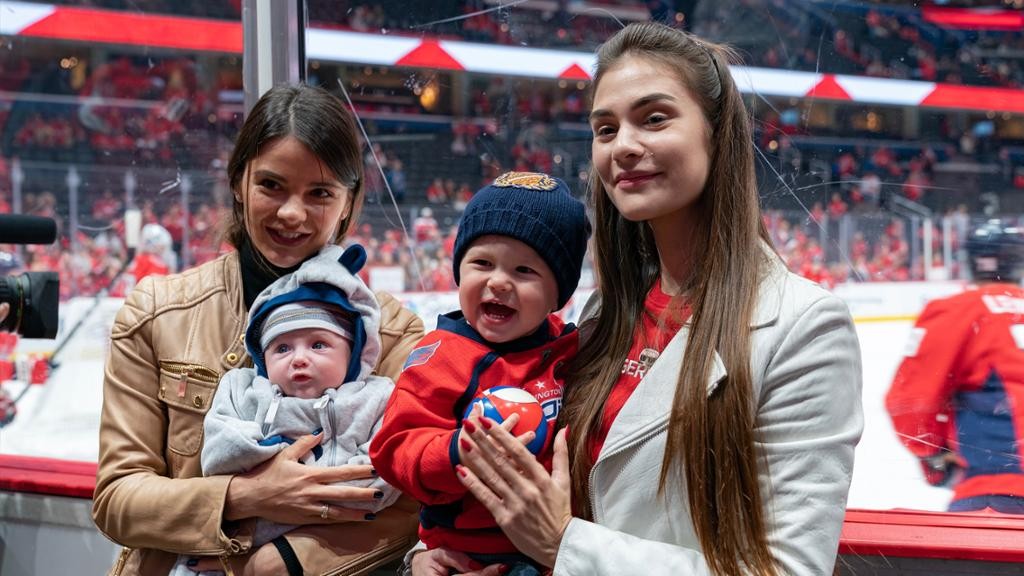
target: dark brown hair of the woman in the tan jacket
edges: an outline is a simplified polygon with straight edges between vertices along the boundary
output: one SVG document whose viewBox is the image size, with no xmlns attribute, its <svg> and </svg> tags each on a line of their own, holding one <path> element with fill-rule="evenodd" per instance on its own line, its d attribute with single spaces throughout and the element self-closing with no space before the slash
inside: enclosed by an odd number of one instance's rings
<svg viewBox="0 0 1024 576">
<path fill-rule="evenodd" d="M 281 84 L 264 93 L 246 117 L 227 161 L 232 194 L 227 241 L 240 248 L 248 236 L 245 206 L 239 200 L 249 162 L 270 142 L 293 136 L 306 146 L 338 181 L 348 187 L 351 205 L 338 223 L 340 242 L 358 219 L 362 208 L 362 155 L 357 126 L 342 101 L 324 88 L 308 84 Z"/>
</svg>

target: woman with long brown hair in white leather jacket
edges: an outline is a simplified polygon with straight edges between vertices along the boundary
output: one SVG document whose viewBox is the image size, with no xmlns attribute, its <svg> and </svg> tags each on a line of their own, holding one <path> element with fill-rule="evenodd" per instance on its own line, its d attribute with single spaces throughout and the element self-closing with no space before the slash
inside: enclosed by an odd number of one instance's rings
<svg viewBox="0 0 1024 576">
<path fill-rule="evenodd" d="M 730 56 L 649 23 L 598 52 L 599 290 L 567 429 L 549 475 L 483 420 L 459 470 L 556 575 L 833 571 L 863 427 L 859 347 L 845 304 L 771 248 Z"/>
</svg>

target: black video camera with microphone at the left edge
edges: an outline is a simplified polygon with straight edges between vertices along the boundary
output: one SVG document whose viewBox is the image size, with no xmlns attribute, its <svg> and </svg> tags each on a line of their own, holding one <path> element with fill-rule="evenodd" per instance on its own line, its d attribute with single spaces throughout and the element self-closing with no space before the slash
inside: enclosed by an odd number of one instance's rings
<svg viewBox="0 0 1024 576">
<path fill-rule="evenodd" d="M 52 244 L 57 236 L 52 218 L 0 214 L 0 244 Z M 0 276 L 0 304 L 10 304 L 0 330 L 26 338 L 55 338 L 60 282 L 55 272 Z"/>
</svg>

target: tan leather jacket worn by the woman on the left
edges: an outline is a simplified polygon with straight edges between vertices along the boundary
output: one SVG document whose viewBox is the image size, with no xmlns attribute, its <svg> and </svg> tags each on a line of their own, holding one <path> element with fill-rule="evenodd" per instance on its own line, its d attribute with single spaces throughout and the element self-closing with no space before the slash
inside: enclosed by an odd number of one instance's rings
<svg viewBox="0 0 1024 576">
<path fill-rule="evenodd" d="M 423 323 L 378 294 L 382 356 L 396 378 Z M 231 574 L 251 537 L 222 530 L 230 477 L 201 478 L 203 417 L 220 375 L 249 363 L 237 252 L 179 275 L 142 280 L 118 313 L 103 378 L 92 517 L 125 546 L 113 575 L 165 575 L 176 554 L 220 556 Z M 416 504 L 402 498 L 369 523 L 288 534 L 306 574 L 362 574 L 415 543 Z"/>
</svg>

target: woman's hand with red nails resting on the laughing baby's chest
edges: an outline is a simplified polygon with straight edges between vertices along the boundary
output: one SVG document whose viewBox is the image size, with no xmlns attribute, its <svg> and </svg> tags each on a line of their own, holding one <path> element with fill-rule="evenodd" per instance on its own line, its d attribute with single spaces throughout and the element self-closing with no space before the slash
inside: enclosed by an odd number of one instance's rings
<svg viewBox="0 0 1024 576">
<path fill-rule="evenodd" d="M 572 519 L 568 448 L 565 430 L 555 436 L 552 471 L 537 461 L 515 437 L 489 418 L 463 429 L 471 439 L 463 446 L 459 479 L 490 513 L 522 553 L 554 566 L 565 527 Z"/>
</svg>

